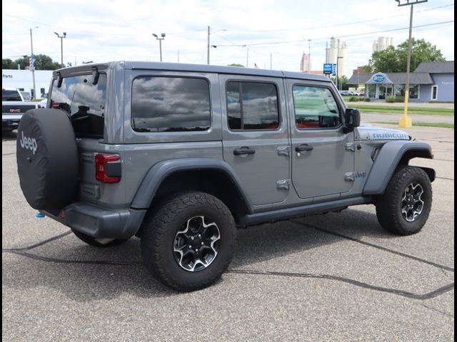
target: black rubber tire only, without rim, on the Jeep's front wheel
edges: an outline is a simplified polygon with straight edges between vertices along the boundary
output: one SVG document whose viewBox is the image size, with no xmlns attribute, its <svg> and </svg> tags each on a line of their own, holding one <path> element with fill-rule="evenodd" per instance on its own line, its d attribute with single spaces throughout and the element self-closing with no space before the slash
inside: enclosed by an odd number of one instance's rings
<svg viewBox="0 0 457 342">
<path fill-rule="evenodd" d="M 401 213 L 401 202 L 406 187 L 419 184 L 423 188 L 423 209 L 413 222 Z M 419 167 L 401 167 L 393 174 L 384 194 L 376 199 L 376 216 L 383 229 L 398 235 L 411 235 L 421 231 L 430 214 L 432 202 L 431 182 Z"/>
</svg>

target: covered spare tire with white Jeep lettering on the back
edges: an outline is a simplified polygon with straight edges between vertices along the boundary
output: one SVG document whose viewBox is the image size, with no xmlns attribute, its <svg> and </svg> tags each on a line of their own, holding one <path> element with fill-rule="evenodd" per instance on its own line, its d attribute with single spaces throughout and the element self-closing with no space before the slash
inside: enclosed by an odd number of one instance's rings
<svg viewBox="0 0 457 342">
<path fill-rule="evenodd" d="M 76 195 L 78 147 L 68 115 L 31 109 L 17 130 L 16 160 L 21 190 L 34 209 L 61 209 Z"/>
</svg>

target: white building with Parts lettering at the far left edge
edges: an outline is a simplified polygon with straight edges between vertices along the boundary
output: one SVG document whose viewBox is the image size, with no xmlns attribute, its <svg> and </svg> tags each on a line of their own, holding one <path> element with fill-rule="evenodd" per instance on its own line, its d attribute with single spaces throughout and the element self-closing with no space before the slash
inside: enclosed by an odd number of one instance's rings
<svg viewBox="0 0 457 342">
<path fill-rule="evenodd" d="M 51 84 L 52 71 L 36 70 L 35 87 L 37 98 L 42 98 L 42 94 L 48 93 Z M 1 70 L 1 87 L 14 88 L 21 91 L 27 91 L 31 95 L 34 93 L 34 80 L 29 70 L 2 69 Z"/>
</svg>

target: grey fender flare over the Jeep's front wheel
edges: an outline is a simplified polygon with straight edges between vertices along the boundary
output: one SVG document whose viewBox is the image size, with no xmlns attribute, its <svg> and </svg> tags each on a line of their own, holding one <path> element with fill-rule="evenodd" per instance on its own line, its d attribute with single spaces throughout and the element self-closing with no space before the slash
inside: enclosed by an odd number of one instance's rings
<svg viewBox="0 0 457 342">
<path fill-rule="evenodd" d="M 410 151 L 418 152 L 420 157 L 433 159 L 431 146 L 426 142 L 401 140 L 386 142 L 381 147 L 371 167 L 365 187 L 363 187 L 363 195 L 382 195 L 398 166 L 398 162 L 406 152 Z M 433 169 L 428 169 L 429 172 L 426 170 L 427 174 L 430 173 L 430 170 L 433 171 Z"/>
</svg>

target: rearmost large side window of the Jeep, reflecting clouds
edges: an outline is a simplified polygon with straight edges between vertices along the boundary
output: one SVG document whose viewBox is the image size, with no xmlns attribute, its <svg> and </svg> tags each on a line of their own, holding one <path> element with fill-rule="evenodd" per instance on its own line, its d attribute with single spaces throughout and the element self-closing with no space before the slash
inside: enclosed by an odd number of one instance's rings
<svg viewBox="0 0 457 342">
<path fill-rule="evenodd" d="M 131 125 L 136 132 L 209 130 L 209 83 L 201 78 L 135 78 Z"/>
</svg>

